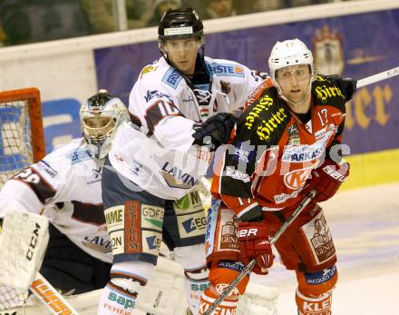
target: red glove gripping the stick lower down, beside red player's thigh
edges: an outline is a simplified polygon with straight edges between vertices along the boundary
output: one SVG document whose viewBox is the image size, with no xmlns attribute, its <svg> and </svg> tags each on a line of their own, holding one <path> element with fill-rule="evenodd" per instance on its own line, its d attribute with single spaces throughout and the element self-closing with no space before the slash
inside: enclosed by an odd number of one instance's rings
<svg viewBox="0 0 399 315">
<path fill-rule="evenodd" d="M 238 240 L 244 264 L 256 258 L 258 263 L 253 271 L 258 274 L 268 274 L 274 256 L 268 241 L 267 225 L 264 222 L 238 222 Z"/>
</svg>

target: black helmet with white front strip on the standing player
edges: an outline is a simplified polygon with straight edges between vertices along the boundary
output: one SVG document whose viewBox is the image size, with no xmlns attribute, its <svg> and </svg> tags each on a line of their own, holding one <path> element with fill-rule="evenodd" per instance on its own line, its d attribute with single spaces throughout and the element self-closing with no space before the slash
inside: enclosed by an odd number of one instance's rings
<svg viewBox="0 0 399 315">
<path fill-rule="evenodd" d="M 158 39 L 161 44 L 168 39 L 195 38 L 202 41 L 204 25 L 199 15 L 190 7 L 168 10 L 158 26 Z"/>
</svg>

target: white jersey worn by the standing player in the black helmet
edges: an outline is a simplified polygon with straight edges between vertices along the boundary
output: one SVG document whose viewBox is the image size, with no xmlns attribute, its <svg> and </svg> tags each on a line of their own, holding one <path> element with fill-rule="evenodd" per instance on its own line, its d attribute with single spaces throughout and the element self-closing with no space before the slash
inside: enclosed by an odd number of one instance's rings
<svg viewBox="0 0 399 315">
<path fill-rule="evenodd" d="M 205 63 L 210 82 L 194 86 L 163 57 L 144 67 L 129 100 L 141 131 L 125 124 L 113 140 L 112 166 L 157 197 L 181 198 L 208 168 L 210 154 L 192 145 L 193 124 L 238 110 L 262 81 L 236 62 L 205 57 Z"/>
</svg>

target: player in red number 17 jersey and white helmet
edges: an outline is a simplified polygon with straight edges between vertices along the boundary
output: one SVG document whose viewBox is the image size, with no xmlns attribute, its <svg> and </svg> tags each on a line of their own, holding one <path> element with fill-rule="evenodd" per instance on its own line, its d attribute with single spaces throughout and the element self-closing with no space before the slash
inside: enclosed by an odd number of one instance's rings
<svg viewBox="0 0 399 315">
<path fill-rule="evenodd" d="M 331 314 L 336 249 L 318 202 L 333 197 L 349 174 L 339 153 L 345 102 L 356 83 L 316 75 L 312 53 L 298 39 L 277 42 L 268 64 L 274 87 L 249 97 L 213 178 L 216 198 L 206 235 L 210 286 L 199 314 L 251 259 L 258 261 L 254 272 L 268 273 L 274 259 L 269 236 L 311 190 L 315 198 L 275 246 L 287 270 L 297 273 L 298 313 Z M 247 284 L 248 277 L 214 314 L 233 314 Z"/>
</svg>

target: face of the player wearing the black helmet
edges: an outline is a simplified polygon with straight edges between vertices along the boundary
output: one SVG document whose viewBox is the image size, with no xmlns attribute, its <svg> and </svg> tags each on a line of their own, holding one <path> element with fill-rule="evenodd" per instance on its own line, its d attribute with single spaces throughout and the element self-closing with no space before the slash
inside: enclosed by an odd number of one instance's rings
<svg viewBox="0 0 399 315">
<path fill-rule="evenodd" d="M 194 74 L 199 42 L 193 38 L 168 40 L 163 46 L 175 68 L 183 74 Z"/>
</svg>

